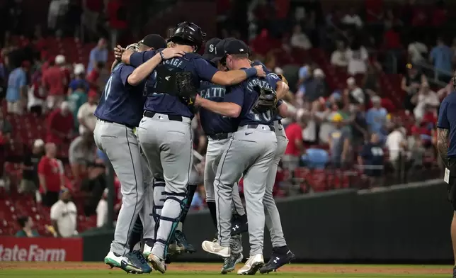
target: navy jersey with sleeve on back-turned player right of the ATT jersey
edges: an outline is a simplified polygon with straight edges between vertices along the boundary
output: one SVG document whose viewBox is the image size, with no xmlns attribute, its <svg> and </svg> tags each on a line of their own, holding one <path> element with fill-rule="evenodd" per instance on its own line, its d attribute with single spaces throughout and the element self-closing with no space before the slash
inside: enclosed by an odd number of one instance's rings
<svg viewBox="0 0 456 278">
<path fill-rule="evenodd" d="M 256 85 L 262 88 L 274 89 L 277 87 L 277 82 L 280 81 L 277 74 L 268 74 L 266 78 L 251 77 L 236 86 L 229 89 L 225 95 L 226 102 L 233 102 L 241 106 L 241 114 L 237 118 L 238 126 L 246 126 L 249 124 L 272 125 L 275 120 L 273 111 L 256 114 L 251 111 L 253 104 L 258 98 L 258 92 L 253 89 Z"/>
</svg>

